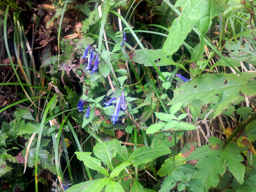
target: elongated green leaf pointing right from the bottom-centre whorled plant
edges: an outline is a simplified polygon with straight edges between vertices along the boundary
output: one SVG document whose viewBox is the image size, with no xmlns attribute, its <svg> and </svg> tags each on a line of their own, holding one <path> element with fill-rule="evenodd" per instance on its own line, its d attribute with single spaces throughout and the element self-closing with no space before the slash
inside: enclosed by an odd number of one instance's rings
<svg viewBox="0 0 256 192">
<path fill-rule="evenodd" d="M 130 161 L 132 162 L 134 166 L 140 165 L 142 163 L 148 163 L 149 161 L 152 161 L 156 159 L 157 157 L 167 155 L 172 153 L 172 151 L 166 147 L 156 147 L 156 148 L 150 148 L 150 147 L 140 147 L 136 151 L 134 151 L 130 155 Z"/>
</svg>

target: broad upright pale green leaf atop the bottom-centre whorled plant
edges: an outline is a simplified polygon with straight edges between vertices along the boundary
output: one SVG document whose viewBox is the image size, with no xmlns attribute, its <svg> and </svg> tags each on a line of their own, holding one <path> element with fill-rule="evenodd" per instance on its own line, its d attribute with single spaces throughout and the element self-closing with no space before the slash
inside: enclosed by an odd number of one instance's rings
<svg viewBox="0 0 256 192">
<path fill-rule="evenodd" d="M 111 160 L 116 156 L 116 152 L 112 151 L 112 141 L 105 141 L 102 143 L 97 143 L 93 147 L 94 155 L 99 158 L 103 163 L 106 164 L 111 170 L 113 170 L 113 166 Z"/>
</svg>

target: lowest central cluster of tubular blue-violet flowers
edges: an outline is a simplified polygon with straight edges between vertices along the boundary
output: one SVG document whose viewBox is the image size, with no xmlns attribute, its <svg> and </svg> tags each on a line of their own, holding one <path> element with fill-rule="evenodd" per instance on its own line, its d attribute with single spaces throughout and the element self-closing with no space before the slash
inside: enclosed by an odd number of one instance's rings
<svg viewBox="0 0 256 192">
<path fill-rule="evenodd" d="M 105 107 L 109 106 L 115 99 L 116 99 L 116 97 L 114 96 L 108 102 L 105 102 L 104 103 Z M 122 96 L 118 97 L 118 99 L 117 99 L 115 112 L 114 112 L 114 114 L 112 115 L 112 118 L 111 118 L 111 120 L 113 121 L 113 124 L 115 124 L 116 121 L 118 120 L 118 115 L 119 115 L 120 108 L 122 108 L 123 111 L 126 109 L 124 91 L 122 92 Z"/>
</svg>

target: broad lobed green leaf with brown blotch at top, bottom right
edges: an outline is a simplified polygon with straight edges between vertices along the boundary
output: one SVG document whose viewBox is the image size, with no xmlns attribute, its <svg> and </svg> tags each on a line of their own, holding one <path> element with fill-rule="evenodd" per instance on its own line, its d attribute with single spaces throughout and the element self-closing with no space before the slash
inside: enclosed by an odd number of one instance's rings
<svg viewBox="0 0 256 192">
<path fill-rule="evenodd" d="M 208 191 L 210 186 L 217 186 L 220 175 L 224 174 L 226 167 L 233 176 L 243 183 L 245 166 L 240 163 L 243 157 L 240 155 L 245 148 L 239 148 L 236 143 L 224 144 L 216 137 L 209 138 L 210 145 L 203 145 L 192 152 L 186 160 L 199 160 L 196 164 L 197 172 L 193 179 L 198 179 Z"/>
</svg>

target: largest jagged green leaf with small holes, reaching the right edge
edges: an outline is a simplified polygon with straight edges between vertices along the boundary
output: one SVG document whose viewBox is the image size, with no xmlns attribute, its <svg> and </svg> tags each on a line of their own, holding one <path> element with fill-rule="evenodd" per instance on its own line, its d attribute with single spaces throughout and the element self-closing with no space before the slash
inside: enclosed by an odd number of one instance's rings
<svg viewBox="0 0 256 192">
<path fill-rule="evenodd" d="M 214 117 L 218 116 L 222 110 L 238 99 L 239 92 L 242 91 L 247 96 L 256 94 L 255 82 L 250 79 L 255 77 L 256 73 L 237 74 L 204 74 L 194 80 L 183 83 L 180 88 L 174 91 L 174 98 L 168 104 L 181 102 L 182 106 L 187 106 L 195 98 L 201 101 L 201 104 L 207 104 L 219 97 L 217 109 Z"/>
</svg>

